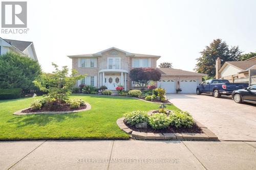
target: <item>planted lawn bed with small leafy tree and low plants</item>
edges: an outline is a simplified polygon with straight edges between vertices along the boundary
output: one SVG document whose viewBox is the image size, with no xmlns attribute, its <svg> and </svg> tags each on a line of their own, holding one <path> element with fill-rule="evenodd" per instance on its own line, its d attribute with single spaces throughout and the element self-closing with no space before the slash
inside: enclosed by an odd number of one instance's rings
<svg viewBox="0 0 256 170">
<path fill-rule="evenodd" d="M 70 99 L 71 89 L 75 82 L 86 75 L 77 76 L 77 71 L 72 70 L 69 75 L 67 66 L 58 69 L 56 64 L 53 64 L 55 71 L 49 75 L 42 75 L 37 80 L 33 81 L 36 87 L 47 94 L 41 99 L 36 99 L 31 103 L 31 107 L 19 113 L 36 113 L 36 112 L 72 112 L 73 110 L 84 110 L 87 108 L 86 102 L 82 99 Z M 36 98 L 34 94 L 33 98 Z M 37 113 L 36 113 L 37 114 Z"/>
</svg>

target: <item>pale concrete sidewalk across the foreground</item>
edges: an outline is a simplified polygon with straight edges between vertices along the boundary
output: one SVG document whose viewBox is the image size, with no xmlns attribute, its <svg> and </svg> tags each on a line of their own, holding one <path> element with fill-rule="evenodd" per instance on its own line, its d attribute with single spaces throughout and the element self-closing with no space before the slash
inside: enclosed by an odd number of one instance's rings
<svg viewBox="0 0 256 170">
<path fill-rule="evenodd" d="M 256 142 L 1 141 L 0 169 L 256 169 Z"/>
</svg>

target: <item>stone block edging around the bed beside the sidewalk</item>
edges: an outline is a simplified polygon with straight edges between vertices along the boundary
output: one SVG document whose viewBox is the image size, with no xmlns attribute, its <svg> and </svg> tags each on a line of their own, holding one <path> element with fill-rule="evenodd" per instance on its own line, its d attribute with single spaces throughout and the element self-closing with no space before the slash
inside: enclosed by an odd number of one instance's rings
<svg viewBox="0 0 256 170">
<path fill-rule="evenodd" d="M 148 112 L 151 114 L 154 110 Z M 194 119 L 194 122 L 200 127 L 203 133 L 146 133 L 133 131 L 124 124 L 124 117 L 116 120 L 118 127 L 125 133 L 130 134 L 135 139 L 144 140 L 219 140 L 218 137 L 211 132 L 207 127 Z"/>
</svg>

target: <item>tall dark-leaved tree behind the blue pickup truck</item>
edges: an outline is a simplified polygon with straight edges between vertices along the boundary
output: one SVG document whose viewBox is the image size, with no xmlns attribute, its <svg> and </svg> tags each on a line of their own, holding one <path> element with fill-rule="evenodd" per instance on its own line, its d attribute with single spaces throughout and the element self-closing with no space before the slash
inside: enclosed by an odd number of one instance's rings
<svg viewBox="0 0 256 170">
<path fill-rule="evenodd" d="M 215 39 L 200 52 L 201 57 L 197 59 L 195 70 L 207 74 L 209 77 L 214 77 L 216 75 L 215 63 L 218 57 L 221 59 L 221 65 L 223 65 L 225 61 L 238 61 L 241 53 L 238 46 L 229 48 L 225 41 Z"/>
</svg>

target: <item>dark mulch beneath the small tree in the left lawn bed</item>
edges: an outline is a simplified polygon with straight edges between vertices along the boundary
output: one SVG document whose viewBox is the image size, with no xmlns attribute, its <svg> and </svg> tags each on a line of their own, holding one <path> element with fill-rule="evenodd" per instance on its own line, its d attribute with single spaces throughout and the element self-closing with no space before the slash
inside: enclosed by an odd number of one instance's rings
<svg viewBox="0 0 256 170">
<path fill-rule="evenodd" d="M 22 113 L 31 113 L 31 112 L 43 112 L 43 111 L 72 111 L 72 110 L 82 110 L 86 109 L 86 105 L 80 106 L 79 108 L 70 108 L 68 104 L 59 104 L 52 106 L 43 106 L 39 110 L 32 110 L 31 108 L 23 110 Z"/>
</svg>

